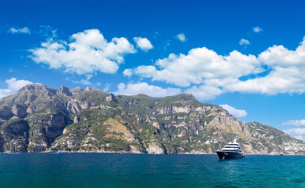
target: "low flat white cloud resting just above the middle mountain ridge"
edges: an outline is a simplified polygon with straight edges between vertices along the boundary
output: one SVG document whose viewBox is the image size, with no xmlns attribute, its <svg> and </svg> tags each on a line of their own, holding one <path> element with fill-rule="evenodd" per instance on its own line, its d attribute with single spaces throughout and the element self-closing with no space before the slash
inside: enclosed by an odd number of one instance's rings
<svg viewBox="0 0 305 188">
<path fill-rule="evenodd" d="M 147 83 L 130 83 L 125 85 L 120 83 L 117 85 L 117 91 L 112 92 L 114 95 L 137 95 L 145 94 L 151 97 L 166 97 L 171 95 L 177 95 L 181 93 L 179 88 L 162 88 L 155 85 L 148 85 Z"/>
</svg>

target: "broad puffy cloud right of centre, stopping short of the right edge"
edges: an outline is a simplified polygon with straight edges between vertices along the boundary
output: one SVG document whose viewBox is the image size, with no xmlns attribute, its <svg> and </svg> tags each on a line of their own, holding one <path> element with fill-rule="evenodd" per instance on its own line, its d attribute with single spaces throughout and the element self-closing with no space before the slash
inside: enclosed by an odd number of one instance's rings
<svg viewBox="0 0 305 188">
<path fill-rule="evenodd" d="M 229 71 L 228 71 L 229 70 Z M 224 86 L 236 82 L 239 77 L 263 71 L 254 55 L 232 51 L 228 56 L 218 55 L 205 47 L 185 54 L 170 54 L 158 59 L 155 66 L 139 66 L 134 74 L 152 81 L 161 81 L 177 86 L 194 85 Z"/>
</svg>

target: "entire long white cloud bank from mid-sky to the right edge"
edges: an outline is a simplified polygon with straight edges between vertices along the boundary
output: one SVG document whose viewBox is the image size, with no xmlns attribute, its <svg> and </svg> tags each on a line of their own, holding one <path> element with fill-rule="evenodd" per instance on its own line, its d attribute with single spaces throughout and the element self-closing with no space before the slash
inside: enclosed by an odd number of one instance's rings
<svg viewBox="0 0 305 188">
<path fill-rule="evenodd" d="M 226 92 L 278 93 L 305 92 L 305 38 L 295 51 L 272 46 L 257 57 L 232 51 L 223 56 L 206 47 L 188 54 L 173 54 L 153 65 L 138 66 L 124 73 L 186 88 L 198 99 L 212 100 Z M 201 89 L 203 88 L 203 89 Z M 207 89 L 209 88 L 209 89 Z"/>
</svg>

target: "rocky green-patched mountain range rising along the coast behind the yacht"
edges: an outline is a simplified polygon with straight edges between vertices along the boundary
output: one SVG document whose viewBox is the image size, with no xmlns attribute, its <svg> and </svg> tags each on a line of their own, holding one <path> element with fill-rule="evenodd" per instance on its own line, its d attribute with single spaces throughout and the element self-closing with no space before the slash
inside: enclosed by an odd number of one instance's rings
<svg viewBox="0 0 305 188">
<path fill-rule="evenodd" d="M 114 96 L 93 87 L 26 85 L 0 99 L 0 151 L 178 154 L 214 151 L 238 139 L 246 154 L 305 154 L 305 143 L 244 123 L 191 94 Z"/>
</svg>

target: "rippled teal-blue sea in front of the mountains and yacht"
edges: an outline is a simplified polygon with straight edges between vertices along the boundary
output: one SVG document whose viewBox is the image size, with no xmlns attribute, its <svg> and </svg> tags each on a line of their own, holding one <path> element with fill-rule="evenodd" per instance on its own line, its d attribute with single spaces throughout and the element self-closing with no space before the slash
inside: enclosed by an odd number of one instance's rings
<svg viewBox="0 0 305 188">
<path fill-rule="evenodd" d="M 0 154 L 2 188 L 305 188 L 305 156 Z"/>
</svg>

